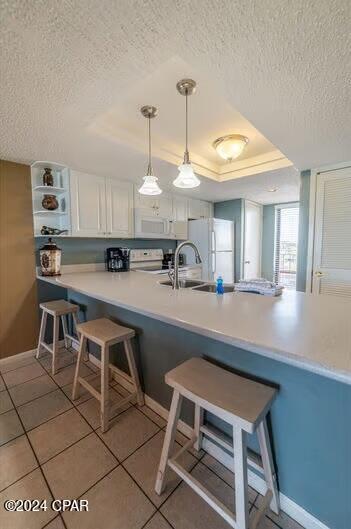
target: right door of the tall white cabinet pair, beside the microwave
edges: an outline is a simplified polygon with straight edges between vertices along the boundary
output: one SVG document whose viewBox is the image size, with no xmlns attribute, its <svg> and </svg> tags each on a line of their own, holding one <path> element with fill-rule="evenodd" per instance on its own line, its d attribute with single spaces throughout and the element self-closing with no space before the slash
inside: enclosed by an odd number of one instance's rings
<svg viewBox="0 0 351 529">
<path fill-rule="evenodd" d="M 133 237 L 133 185 L 108 178 L 106 206 L 108 236 Z"/>
</svg>

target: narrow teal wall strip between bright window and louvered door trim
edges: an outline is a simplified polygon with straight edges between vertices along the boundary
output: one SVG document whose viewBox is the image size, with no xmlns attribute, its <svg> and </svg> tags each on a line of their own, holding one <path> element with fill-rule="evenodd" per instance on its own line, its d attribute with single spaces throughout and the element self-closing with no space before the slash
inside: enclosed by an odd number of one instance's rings
<svg viewBox="0 0 351 529">
<path fill-rule="evenodd" d="M 301 292 L 305 292 L 306 290 L 310 177 L 311 171 L 302 171 L 300 180 L 300 220 L 296 276 L 296 290 L 300 290 Z"/>
</svg>

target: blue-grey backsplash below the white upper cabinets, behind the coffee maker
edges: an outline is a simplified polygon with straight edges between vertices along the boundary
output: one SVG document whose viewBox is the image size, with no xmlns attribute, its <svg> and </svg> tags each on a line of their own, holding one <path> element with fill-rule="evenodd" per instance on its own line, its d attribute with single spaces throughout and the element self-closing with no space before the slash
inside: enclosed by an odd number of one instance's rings
<svg viewBox="0 0 351 529">
<path fill-rule="evenodd" d="M 103 263 L 106 248 L 124 246 L 126 248 L 162 248 L 175 250 L 177 243 L 168 239 L 91 239 L 83 237 L 52 237 L 62 250 L 62 264 Z M 39 249 L 47 239 L 35 239 L 36 261 L 39 265 Z"/>
</svg>

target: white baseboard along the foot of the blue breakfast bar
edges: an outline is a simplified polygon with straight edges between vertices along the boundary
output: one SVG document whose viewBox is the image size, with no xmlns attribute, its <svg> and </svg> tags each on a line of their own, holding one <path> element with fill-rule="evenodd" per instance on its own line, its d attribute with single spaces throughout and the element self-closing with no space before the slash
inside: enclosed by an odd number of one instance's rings
<svg viewBox="0 0 351 529">
<path fill-rule="evenodd" d="M 90 354 L 89 359 L 96 366 L 100 366 L 100 360 L 95 356 Z M 118 375 L 118 373 L 115 372 L 113 373 L 113 376 L 114 379 L 121 386 L 123 386 L 128 391 L 132 392 L 133 388 L 127 380 L 125 380 L 120 375 Z M 168 410 L 148 395 L 145 394 L 144 397 L 145 404 L 167 421 L 169 413 Z M 193 429 L 191 428 L 191 426 L 189 426 L 182 420 L 180 420 L 178 423 L 178 430 L 189 439 L 193 433 Z M 222 463 L 222 465 L 227 467 L 229 470 L 232 470 L 233 459 L 225 450 L 223 450 L 221 447 L 219 447 L 207 438 L 205 438 L 203 441 L 203 448 L 208 454 L 210 454 L 212 457 Z M 259 494 L 264 495 L 267 491 L 265 480 L 254 472 L 252 472 L 250 469 L 248 471 L 248 483 L 250 487 L 256 490 Z M 307 512 L 305 509 L 300 507 L 300 505 L 295 503 L 293 500 L 288 498 L 288 496 L 285 496 L 281 492 L 279 493 L 279 499 L 281 510 L 284 511 L 288 516 L 293 518 L 293 520 L 302 525 L 302 527 L 304 527 L 305 529 L 329 529 L 328 526 L 326 526 L 324 523 L 315 518 L 312 514 Z"/>
</svg>

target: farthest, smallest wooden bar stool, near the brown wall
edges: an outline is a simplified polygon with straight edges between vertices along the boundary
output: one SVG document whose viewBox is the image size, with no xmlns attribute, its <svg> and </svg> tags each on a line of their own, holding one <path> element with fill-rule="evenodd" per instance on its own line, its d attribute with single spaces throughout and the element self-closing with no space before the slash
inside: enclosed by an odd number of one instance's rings
<svg viewBox="0 0 351 529">
<path fill-rule="evenodd" d="M 36 358 L 39 358 L 40 356 L 41 347 L 44 347 L 44 349 L 49 351 L 49 353 L 52 354 L 52 367 L 51 367 L 52 374 L 55 375 L 57 372 L 57 353 L 58 353 L 58 345 L 59 345 L 60 320 L 62 323 L 65 347 L 68 348 L 70 343 L 72 342 L 78 344 L 79 343 L 78 340 L 74 338 L 74 336 L 71 336 L 70 334 L 68 334 L 67 332 L 66 317 L 68 314 L 72 314 L 73 322 L 77 330 L 77 326 L 78 326 L 77 312 L 79 310 L 79 307 L 78 305 L 69 303 L 65 299 L 58 299 L 56 301 L 48 301 L 47 303 L 40 303 L 40 308 L 42 309 L 43 312 L 41 316 Z M 54 322 L 52 348 L 45 342 L 45 331 L 46 331 L 48 314 L 50 314 L 50 316 L 53 317 L 53 322 Z M 77 331 L 77 334 L 78 334 L 78 331 Z M 79 337 L 79 334 L 78 334 L 78 337 Z"/>
</svg>

